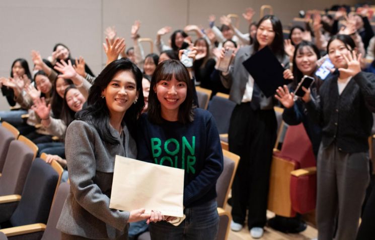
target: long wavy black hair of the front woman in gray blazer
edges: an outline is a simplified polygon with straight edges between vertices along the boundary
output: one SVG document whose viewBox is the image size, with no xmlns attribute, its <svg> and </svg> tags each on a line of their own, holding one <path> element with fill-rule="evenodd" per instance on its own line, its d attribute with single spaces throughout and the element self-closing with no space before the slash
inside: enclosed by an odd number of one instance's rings
<svg viewBox="0 0 375 240">
<path fill-rule="evenodd" d="M 121 125 L 126 124 L 130 134 L 135 137 L 137 116 L 141 113 L 144 99 L 142 92 L 142 72 L 139 68 L 127 58 L 121 58 L 108 64 L 99 76 L 95 79 L 90 88 L 87 99 L 88 106 L 77 112 L 76 119 L 89 122 L 98 131 L 100 138 L 109 145 L 120 144 L 115 137 L 111 135 L 109 125 L 109 109 L 105 99 L 101 98 L 102 91 L 108 86 L 113 76 L 119 71 L 129 71 L 134 75 L 138 99 L 135 104 L 131 104 L 122 118 Z"/>
</svg>

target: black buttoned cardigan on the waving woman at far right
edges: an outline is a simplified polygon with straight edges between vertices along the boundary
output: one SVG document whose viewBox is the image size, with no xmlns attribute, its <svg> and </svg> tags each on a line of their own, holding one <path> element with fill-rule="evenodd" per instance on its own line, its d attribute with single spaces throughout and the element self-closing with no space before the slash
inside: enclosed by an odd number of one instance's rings
<svg viewBox="0 0 375 240">
<path fill-rule="evenodd" d="M 306 107 L 322 127 L 324 148 L 335 142 L 340 151 L 365 152 L 373 124 L 371 111 L 375 112 L 375 75 L 359 72 L 341 95 L 337 78 L 335 74 L 327 79 L 319 89 L 320 97 Z"/>
</svg>

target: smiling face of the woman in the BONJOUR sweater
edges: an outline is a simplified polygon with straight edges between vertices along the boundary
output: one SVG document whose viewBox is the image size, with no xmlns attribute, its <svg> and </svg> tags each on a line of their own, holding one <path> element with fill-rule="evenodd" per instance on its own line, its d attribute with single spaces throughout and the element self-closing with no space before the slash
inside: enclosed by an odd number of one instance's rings
<svg viewBox="0 0 375 240">
<path fill-rule="evenodd" d="M 186 99 L 187 84 L 173 76 L 170 80 L 159 81 L 153 90 L 156 91 L 161 104 L 162 117 L 177 121 L 179 107 Z"/>
</svg>

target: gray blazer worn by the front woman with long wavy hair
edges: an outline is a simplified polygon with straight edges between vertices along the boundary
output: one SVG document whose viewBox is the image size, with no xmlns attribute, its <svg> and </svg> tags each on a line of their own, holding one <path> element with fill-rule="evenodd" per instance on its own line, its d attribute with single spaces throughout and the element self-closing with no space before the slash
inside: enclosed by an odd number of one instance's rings
<svg viewBox="0 0 375 240">
<path fill-rule="evenodd" d="M 129 212 L 109 208 L 115 155 L 136 158 L 135 141 L 126 126 L 123 138 L 111 128 L 120 145 L 104 145 L 95 128 L 73 121 L 66 130 L 65 155 L 70 192 L 57 228 L 93 239 L 115 239 L 127 234 Z"/>
</svg>

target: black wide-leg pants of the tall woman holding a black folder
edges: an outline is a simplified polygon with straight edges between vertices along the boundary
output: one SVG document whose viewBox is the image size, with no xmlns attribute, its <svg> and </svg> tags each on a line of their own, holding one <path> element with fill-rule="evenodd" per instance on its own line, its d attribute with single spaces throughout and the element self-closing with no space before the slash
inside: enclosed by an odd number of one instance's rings
<svg viewBox="0 0 375 240">
<path fill-rule="evenodd" d="M 232 186 L 232 217 L 248 226 L 263 227 L 267 218 L 269 172 L 276 141 L 275 112 L 253 110 L 241 103 L 233 110 L 229 128 L 229 150 L 241 157 Z"/>
</svg>

